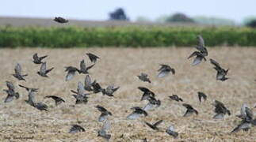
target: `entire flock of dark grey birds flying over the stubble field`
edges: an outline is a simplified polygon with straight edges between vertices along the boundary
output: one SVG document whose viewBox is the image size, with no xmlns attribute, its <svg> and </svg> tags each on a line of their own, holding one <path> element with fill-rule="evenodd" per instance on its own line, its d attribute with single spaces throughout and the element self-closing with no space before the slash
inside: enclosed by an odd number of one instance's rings
<svg viewBox="0 0 256 142">
<path fill-rule="evenodd" d="M 68 21 L 65 20 L 62 17 L 55 17 L 54 21 L 57 21 L 59 23 L 67 23 Z M 196 47 L 196 51 L 194 51 L 189 58 L 193 58 L 192 65 L 199 65 L 203 60 L 206 61 L 206 56 L 208 56 L 208 50 L 204 46 L 204 39 L 202 36 L 197 36 L 198 39 L 198 45 Z M 113 97 L 114 92 L 117 92 L 119 87 L 115 87 L 113 85 L 109 85 L 106 88 L 101 88 L 101 85 L 96 81 L 92 81 L 89 76 L 89 70 L 96 65 L 97 61 L 100 59 L 97 55 L 92 53 L 86 54 L 92 65 L 86 66 L 85 61 L 82 60 L 80 62 L 80 68 L 74 66 L 67 66 L 65 67 L 65 72 L 67 72 L 67 76 L 65 78 L 66 81 L 71 80 L 76 73 L 79 74 L 86 74 L 85 77 L 85 83 L 82 84 L 82 82 L 78 82 L 78 88 L 76 91 L 71 90 L 72 93 L 74 93 L 74 97 L 76 99 L 75 104 L 86 104 L 88 102 L 89 95 L 102 93 L 102 95 L 108 95 L 109 97 Z M 37 72 L 37 74 L 40 77 L 48 77 L 48 73 L 50 73 L 54 68 L 47 69 L 46 62 L 43 62 L 44 58 L 47 58 L 48 56 L 42 56 L 39 57 L 38 54 L 33 54 L 32 59 L 33 63 L 40 65 L 40 70 Z M 216 80 L 225 81 L 228 79 L 227 72 L 228 69 L 224 69 L 218 62 L 210 59 L 210 62 L 212 65 L 214 65 L 213 69 L 216 69 Z M 170 65 L 160 65 L 160 68 L 158 70 L 157 77 L 167 77 L 169 74 L 175 74 L 175 69 L 170 67 Z M 17 78 L 17 80 L 24 80 L 25 77 L 27 77 L 28 74 L 22 73 L 21 65 L 17 63 L 17 65 L 14 68 L 14 74 L 13 77 Z M 149 76 L 146 73 L 141 73 L 139 76 L 137 76 L 139 80 L 142 80 L 147 83 L 151 83 L 151 80 Z M 18 92 L 15 91 L 15 87 L 12 82 L 6 81 L 6 86 L 8 89 L 4 89 L 4 92 L 6 92 L 7 96 L 5 99 L 5 103 L 10 103 L 14 99 L 19 99 L 20 95 Z M 29 104 L 31 107 L 34 107 L 38 110 L 45 110 L 48 111 L 48 106 L 45 103 L 42 102 L 36 102 L 35 96 L 36 92 L 38 92 L 39 88 L 29 88 L 25 87 L 24 85 L 19 84 L 18 85 L 21 88 L 25 88 L 25 90 L 28 92 L 29 99 L 25 100 L 25 103 Z M 148 110 L 155 110 L 157 107 L 161 106 L 161 100 L 156 99 L 155 93 L 152 92 L 149 88 L 144 87 L 138 87 L 138 89 L 143 92 L 143 95 L 141 97 L 141 101 L 147 100 L 148 103 L 145 107 L 132 107 L 132 113 L 128 115 L 127 119 L 138 119 L 140 117 L 147 117 L 147 111 Z M 197 92 L 199 101 L 206 101 L 207 95 L 204 94 L 204 92 Z M 177 102 L 183 102 L 183 99 L 181 99 L 178 95 L 171 95 L 169 96 L 170 99 L 175 100 Z M 56 95 L 47 95 L 45 96 L 46 99 L 54 99 L 55 100 L 55 106 L 61 105 L 62 103 L 65 103 L 65 100 L 60 98 Z M 185 107 L 187 110 L 185 111 L 185 114 L 183 117 L 189 117 L 193 114 L 198 115 L 199 112 L 193 108 L 192 105 L 188 103 L 183 103 L 183 107 Z M 224 103 L 221 103 L 218 100 L 215 100 L 215 103 L 213 104 L 215 107 L 215 113 L 216 115 L 213 116 L 214 119 L 222 119 L 226 114 L 231 115 L 231 111 L 225 107 Z M 110 129 L 110 122 L 109 122 L 109 116 L 112 116 L 113 114 L 107 110 L 105 107 L 102 107 L 100 105 L 96 106 L 97 110 L 101 112 L 101 115 L 98 118 L 98 121 L 103 122 L 102 128 L 97 131 L 98 135 L 103 137 L 105 140 L 109 140 L 111 138 L 111 134 L 109 134 Z M 241 118 L 242 121 L 231 131 L 231 133 L 239 132 L 239 130 L 247 131 L 250 129 L 253 125 L 256 125 L 256 119 L 254 119 L 253 111 L 248 107 L 246 104 L 243 104 L 241 107 L 241 114 L 237 115 L 238 118 Z M 145 124 L 155 131 L 161 131 L 159 129 L 159 125 L 162 123 L 163 120 L 156 121 L 154 124 L 148 123 L 145 121 Z M 71 129 L 69 130 L 69 133 L 78 133 L 78 132 L 84 132 L 85 129 L 81 125 L 72 125 Z M 174 125 L 170 125 L 166 131 L 167 134 L 170 136 L 174 136 L 174 138 L 178 137 L 178 132 L 175 131 Z M 147 141 L 147 139 L 143 139 L 144 142 Z"/>
</svg>

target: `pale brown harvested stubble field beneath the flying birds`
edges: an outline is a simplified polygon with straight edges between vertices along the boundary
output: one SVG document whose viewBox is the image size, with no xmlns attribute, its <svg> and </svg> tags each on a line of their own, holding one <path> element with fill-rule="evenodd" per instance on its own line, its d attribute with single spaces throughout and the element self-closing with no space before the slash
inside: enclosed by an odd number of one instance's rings
<svg viewBox="0 0 256 142">
<path fill-rule="evenodd" d="M 0 50 L 0 90 L 6 88 L 6 80 L 10 80 L 20 92 L 20 99 L 11 103 L 3 103 L 6 97 L 1 92 L 0 100 L 0 140 L 1 141 L 103 141 L 97 137 L 97 130 L 102 123 L 97 122 L 100 112 L 95 108 L 101 105 L 113 113 L 111 122 L 111 141 L 139 142 L 147 137 L 150 142 L 169 141 L 255 141 L 256 127 L 248 132 L 230 133 L 239 124 L 240 107 L 247 103 L 250 107 L 256 103 L 256 48 L 254 47 L 216 47 L 208 48 L 209 58 L 216 59 L 225 69 L 229 80 L 216 80 L 216 71 L 212 65 L 202 62 L 191 66 L 192 60 L 186 59 L 193 52 L 193 48 L 88 48 L 88 49 L 1 49 Z M 86 52 L 92 52 L 101 57 L 93 69 L 90 77 L 96 79 L 102 87 L 109 84 L 120 86 L 115 97 L 110 98 L 101 94 L 91 95 L 86 105 L 75 105 L 75 99 L 70 92 L 76 90 L 78 81 L 84 82 L 85 75 L 76 75 L 72 80 L 65 81 L 64 66 L 79 67 L 79 62 L 86 59 Z M 32 54 L 48 54 L 45 59 L 48 68 L 55 69 L 49 73 L 49 78 L 36 74 L 40 65 L 32 63 Z M 29 73 L 26 81 L 17 81 L 12 77 L 14 66 L 19 62 L 23 73 Z M 156 77 L 159 64 L 169 64 L 176 69 L 175 75 L 163 79 Z M 149 74 L 152 83 L 140 81 L 136 75 Z M 23 84 L 32 88 L 40 88 L 36 100 L 48 104 L 48 112 L 36 110 L 25 103 L 28 98 Z M 162 106 L 149 111 L 146 118 L 127 120 L 132 113 L 131 107 L 143 107 L 145 102 L 139 101 L 142 92 L 139 86 L 150 88 L 161 99 Z M 197 92 L 204 92 L 208 100 L 199 103 Z M 169 95 L 179 95 L 185 103 L 191 104 L 199 111 L 198 116 L 183 118 L 185 107 L 182 103 L 170 101 Z M 44 99 L 46 95 L 58 95 L 66 103 L 55 107 L 52 99 Z M 213 101 L 217 99 L 231 110 L 231 116 L 223 120 L 214 120 Z M 254 109 L 254 113 L 256 109 Z M 162 119 L 159 125 L 162 132 L 151 130 L 144 121 L 155 122 Z M 82 125 L 86 132 L 70 134 L 71 125 Z M 177 139 L 164 131 L 173 124 L 179 133 Z M 25 139 L 27 138 L 27 139 Z"/>
</svg>

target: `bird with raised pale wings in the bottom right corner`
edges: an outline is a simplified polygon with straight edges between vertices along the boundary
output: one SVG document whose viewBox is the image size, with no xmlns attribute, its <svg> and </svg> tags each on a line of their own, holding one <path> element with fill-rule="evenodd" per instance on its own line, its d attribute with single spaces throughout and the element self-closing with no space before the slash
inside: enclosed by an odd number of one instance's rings
<svg viewBox="0 0 256 142">
<path fill-rule="evenodd" d="M 247 107 L 246 104 L 243 104 L 241 107 L 241 114 L 237 115 L 239 118 L 242 119 L 242 121 L 239 123 L 238 126 L 235 127 L 231 131 L 231 133 L 237 133 L 239 130 L 243 129 L 244 131 L 248 131 L 252 125 L 254 125 L 254 114 L 253 111 L 250 110 L 249 107 Z M 255 119 L 256 120 L 256 119 Z"/>
</svg>

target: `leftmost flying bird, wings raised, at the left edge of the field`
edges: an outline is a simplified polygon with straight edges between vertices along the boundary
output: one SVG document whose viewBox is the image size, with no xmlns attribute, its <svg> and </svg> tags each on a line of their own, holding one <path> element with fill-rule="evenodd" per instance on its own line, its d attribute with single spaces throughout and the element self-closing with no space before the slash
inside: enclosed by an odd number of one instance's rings
<svg viewBox="0 0 256 142">
<path fill-rule="evenodd" d="M 14 98 L 19 99 L 20 94 L 18 92 L 15 92 L 15 88 L 13 86 L 13 83 L 10 81 L 6 81 L 6 86 L 8 90 L 4 89 L 3 91 L 7 93 L 6 99 L 4 103 L 10 103 L 13 101 Z"/>
</svg>

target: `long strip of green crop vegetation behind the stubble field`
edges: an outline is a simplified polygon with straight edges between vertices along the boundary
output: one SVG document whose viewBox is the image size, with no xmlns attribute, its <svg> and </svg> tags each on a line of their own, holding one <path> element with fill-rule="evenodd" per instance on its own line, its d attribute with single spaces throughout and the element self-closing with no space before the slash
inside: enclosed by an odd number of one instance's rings
<svg viewBox="0 0 256 142">
<path fill-rule="evenodd" d="M 236 27 L 0 27 L 0 47 L 256 46 L 256 29 Z"/>
</svg>

